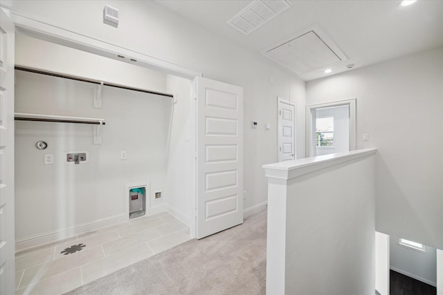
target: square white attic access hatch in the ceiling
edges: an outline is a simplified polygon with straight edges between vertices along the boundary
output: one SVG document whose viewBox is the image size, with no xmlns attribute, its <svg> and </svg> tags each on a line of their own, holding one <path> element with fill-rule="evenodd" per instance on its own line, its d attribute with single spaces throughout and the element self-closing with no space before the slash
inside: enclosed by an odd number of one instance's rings
<svg viewBox="0 0 443 295">
<path fill-rule="evenodd" d="M 318 26 L 273 44 L 260 53 L 298 75 L 316 69 L 324 70 L 327 66 L 347 60 L 332 39 Z"/>
</svg>

